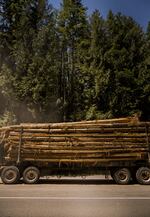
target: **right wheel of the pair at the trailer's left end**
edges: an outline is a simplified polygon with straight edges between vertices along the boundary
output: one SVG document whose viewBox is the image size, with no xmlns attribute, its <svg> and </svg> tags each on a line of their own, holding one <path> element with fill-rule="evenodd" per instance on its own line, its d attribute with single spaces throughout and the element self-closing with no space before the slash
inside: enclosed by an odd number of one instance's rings
<svg viewBox="0 0 150 217">
<path fill-rule="evenodd" d="M 40 171 L 37 167 L 27 167 L 23 172 L 23 181 L 26 184 L 35 184 L 40 178 Z"/>
</svg>

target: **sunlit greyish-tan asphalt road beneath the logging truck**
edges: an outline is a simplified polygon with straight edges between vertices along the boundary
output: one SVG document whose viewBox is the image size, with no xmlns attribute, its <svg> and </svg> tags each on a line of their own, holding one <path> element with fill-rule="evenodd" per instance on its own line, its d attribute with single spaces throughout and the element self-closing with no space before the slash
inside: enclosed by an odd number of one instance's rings
<svg viewBox="0 0 150 217">
<path fill-rule="evenodd" d="M 0 217 L 150 217 L 150 186 L 101 177 L 0 184 Z"/>
</svg>

